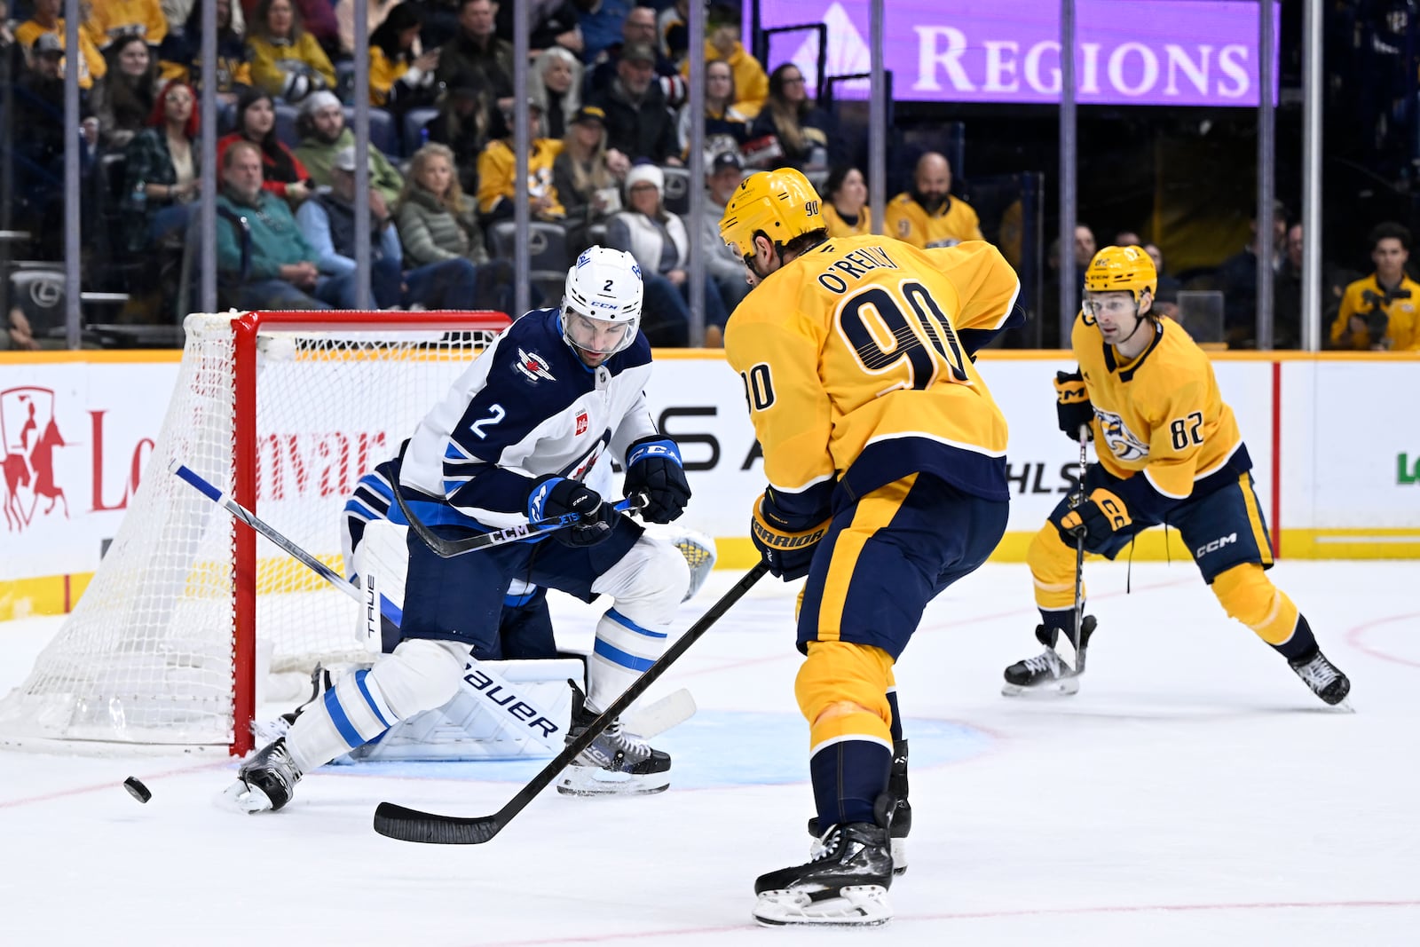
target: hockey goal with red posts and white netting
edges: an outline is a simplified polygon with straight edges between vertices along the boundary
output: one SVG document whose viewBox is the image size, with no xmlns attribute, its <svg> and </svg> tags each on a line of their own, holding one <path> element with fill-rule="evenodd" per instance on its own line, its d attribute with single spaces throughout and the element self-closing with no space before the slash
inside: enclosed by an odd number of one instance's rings
<svg viewBox="0 0 1420 947">
<path fill-rule="evenodd" d="M 0 745 L 241 754 L 267 681 L 368 660 L 358 602 L 169 463 L 344 574 L 341 514 L 356 480 L 507 325 L 498 312 L 187 317 L 138 493 L 78 606 L 0 700 Z"/>
</svg>

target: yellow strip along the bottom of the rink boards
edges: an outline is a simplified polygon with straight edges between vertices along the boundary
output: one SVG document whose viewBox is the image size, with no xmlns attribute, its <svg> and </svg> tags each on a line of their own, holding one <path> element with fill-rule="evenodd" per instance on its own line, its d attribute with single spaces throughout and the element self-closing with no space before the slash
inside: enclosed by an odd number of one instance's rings
<svg viewBox="0 0 1420 947">
<path fill-rule="evenodd" d="M 1034 532 L 1007 532 L 1001 545 L 991 554 L 991 562 L 1025 562 L 1025 549 Z M 1189 562 L 1189 551 L 1183 547 L 1177 530 L 1169 530 L 1169 545 L 1164 548 L 1163 530 L 1149 530 L 1136 541 L 1135 562 Z M 754 544 L 744 537 L 716 540 L 717 569 L 748 569 L 760 561 Z M 341 557 L 318 557 L 337 574 L 344 575 Z M 1284 530 L 1281 559 L 1420 559 L 1420 530 Z M 1118 557 L 1129 559 L 1129 547 Z M 325 588 L 325 582 L 294 559 L 266 558 L 258 566 L 261 579 L 258 592 L 305 592 Z M 189 588 L 202 586 L 195 571 Z M 207 574 L 214 576 L 216 571 Z M 0 622 L 31 615 L 62 615 L 72 611 L 84 589 L 88 588 L 92 572 L 72 575 L 45 575 L 33 579 L 11 579 L 0 582 Z M 68 591 L 65 592 L 65 581 Z M 68 603 L 68 608 L 65 608 Z"/>
</svg>

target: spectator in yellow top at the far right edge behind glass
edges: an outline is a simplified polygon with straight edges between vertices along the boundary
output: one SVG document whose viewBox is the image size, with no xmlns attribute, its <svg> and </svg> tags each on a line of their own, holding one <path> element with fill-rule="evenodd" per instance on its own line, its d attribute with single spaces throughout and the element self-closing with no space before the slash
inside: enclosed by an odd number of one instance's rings
<svg viewBox="0 0 1420 947">
<path fill-rule="evenodd" d="M 1410 230 L 1382 223 L 1370 231 L 1376 271 L 1346 287 L 1332 322 L 1332 348 L 1353 351 L 1420 351 L 1420 283 L 1406 275 Z"/>
</svg>

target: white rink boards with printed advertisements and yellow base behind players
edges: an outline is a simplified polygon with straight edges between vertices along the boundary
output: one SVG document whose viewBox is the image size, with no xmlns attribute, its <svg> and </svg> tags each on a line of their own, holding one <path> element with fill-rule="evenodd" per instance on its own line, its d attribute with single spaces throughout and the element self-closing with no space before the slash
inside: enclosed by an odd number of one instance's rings
<svg viewBox="0 0 1420 947">
<path fill-rule="evenodd" d="M 750 504 L 764 476 L 740 379 L 714 354 L 657 358 L 648 396 L 682 444 L 694 490 L 687 524 L 716 537 L 723 565 L 748 565 Z M 997 558 L 1020 561 L 1075 483 L 1078 451 L 1056 430 L 1051 386 L 1072 365 L 1030 352 L 985 352 L 978 365 L 1011 425 L 1011 518 Z M 1420 413 L 1386 410 L 1417 366 L 1402 355 L 1216 356 L 1282 557 L 1420 558 Z M 77 601 L 139 480 L 166 476 L 148 461 L 176 379 L 176 354 L 0 356 L 0 619 Z M 291 483 L 324 488 L 314 474 Z M 258 513 L 281 528 L 283 504 L 266 500 Z M 1136 558 L 1166 554 L 1159 530 L 1137 545 Z"/>
</svg>

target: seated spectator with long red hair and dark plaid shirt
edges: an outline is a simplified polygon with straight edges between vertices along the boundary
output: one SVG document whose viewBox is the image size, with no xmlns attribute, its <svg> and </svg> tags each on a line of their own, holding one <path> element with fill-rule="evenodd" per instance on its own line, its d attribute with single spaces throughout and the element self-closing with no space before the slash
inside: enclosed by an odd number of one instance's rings
<svg viewBox="0 0 1420 947">
<path fill-rule="evenodd" d="M 125 152 L 124 220 L 131 253 L 185 233 L 202 186 L 197 128 L 197 94 L 182 80 L 169 80 L 158 92 L 148 128 Z"/>
</svg>

